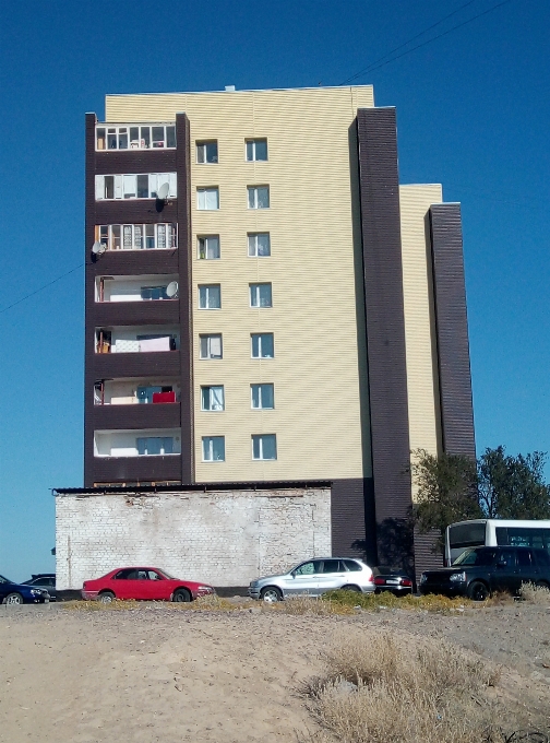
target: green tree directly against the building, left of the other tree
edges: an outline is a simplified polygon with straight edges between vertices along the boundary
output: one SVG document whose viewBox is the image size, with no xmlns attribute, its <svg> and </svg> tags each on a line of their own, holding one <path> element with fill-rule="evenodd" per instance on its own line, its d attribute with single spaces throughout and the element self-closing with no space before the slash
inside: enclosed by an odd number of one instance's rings
<svg viewBox="0 0 550 743">
<path fill-rule="evenodd" d="M 414 451 L 411 460 L 415 524 L 422 533 L 434 532 L 435 549 L 443 552 L 450 523 L 483 516 L 478 500 L 476 460 L 463 455 L 437 457 L 425 449 Z"/>
</svg>

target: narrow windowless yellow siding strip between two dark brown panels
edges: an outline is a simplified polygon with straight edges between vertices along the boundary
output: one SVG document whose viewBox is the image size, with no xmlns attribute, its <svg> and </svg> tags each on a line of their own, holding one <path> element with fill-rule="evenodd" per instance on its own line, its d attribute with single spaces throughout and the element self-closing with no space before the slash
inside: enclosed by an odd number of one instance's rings
<svg viewBox="0 0 550 743">
<path fill-rule="evenodd" d="M 428 211 L 442 201 L 442 189 L 439 184 L 400 186 L 399 201 L 410 449 L 438 455 L 441 429 Z"/>
</svg>

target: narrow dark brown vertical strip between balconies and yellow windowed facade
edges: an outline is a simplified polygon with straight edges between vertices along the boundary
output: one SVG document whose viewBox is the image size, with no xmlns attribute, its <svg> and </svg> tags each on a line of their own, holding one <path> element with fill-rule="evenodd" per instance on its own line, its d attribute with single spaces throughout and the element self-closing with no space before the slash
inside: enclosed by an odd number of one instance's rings
<svg viewBox="0 0 550 743">
<path fill-rule="evenodd" d="M 193 332 L 191 287 L 191 135 L 186 114 L 176 115 L 178 140 L 178 256 L 181 359 L 181 482 L 194 481 Z"/>
</svg>

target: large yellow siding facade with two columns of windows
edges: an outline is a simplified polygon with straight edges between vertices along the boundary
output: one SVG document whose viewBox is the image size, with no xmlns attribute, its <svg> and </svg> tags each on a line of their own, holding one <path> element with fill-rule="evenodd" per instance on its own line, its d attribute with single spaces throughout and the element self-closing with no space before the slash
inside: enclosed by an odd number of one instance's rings
<svg viewBox="0 0 550 743">
<path fill-rule="evenodd" d="M 196 482 L 372 475 L 350 137 L 357 108 L 373 105 L 371 86 L 107 97 L 110 122 L 190 120 Z M 246 162 L 250 138 L 267 139 L 267 162 Z M 201 140 L 217 140 L 217 164 L 195 163 Z M 248 209 L 254 185 L 270 186 L 270 209 Z M 204 186 L 218 187 L 218 211 L 196 209 Z M 271 257 L 249 258 L 254 232 L 271 234 Z M 198 235 L 219 235 L 219 260 L 198 259 Z M 273 307 L 250 308 L 254 282 L 272 283 Z M 199 309 L 200 284 L 220 284 L 220 309 Z M 251 358 L 255 332 L 274 333 L 274 358 Z M 223 359 L 199 358 L 202 333 L 223 334 Z M 262 382 L 275 410 L 251 409 Z M 224 412 L 201 411 L 205 385 L 224 385 Z M 252 460 L 253 434 L 276 434 L 275 461 Z M 202 461 L 203 436 L 225 436 L 225 462 Z"/>
</svg>

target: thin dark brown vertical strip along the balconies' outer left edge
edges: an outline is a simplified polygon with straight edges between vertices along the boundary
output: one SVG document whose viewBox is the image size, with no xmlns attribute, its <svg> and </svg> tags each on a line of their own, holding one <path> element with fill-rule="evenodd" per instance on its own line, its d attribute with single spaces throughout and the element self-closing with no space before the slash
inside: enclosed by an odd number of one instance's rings
<svg viewBox="0 0 550 743">
<path fill-rule="evenodd" d="M 85 339 L 84 339 L 84 486 L 94 484 L 94 281 L 95 264 L 92 261 L 92 246 L 95 238 L 95 114 L 86 114 L 85 129 Z"/>
</svg>

